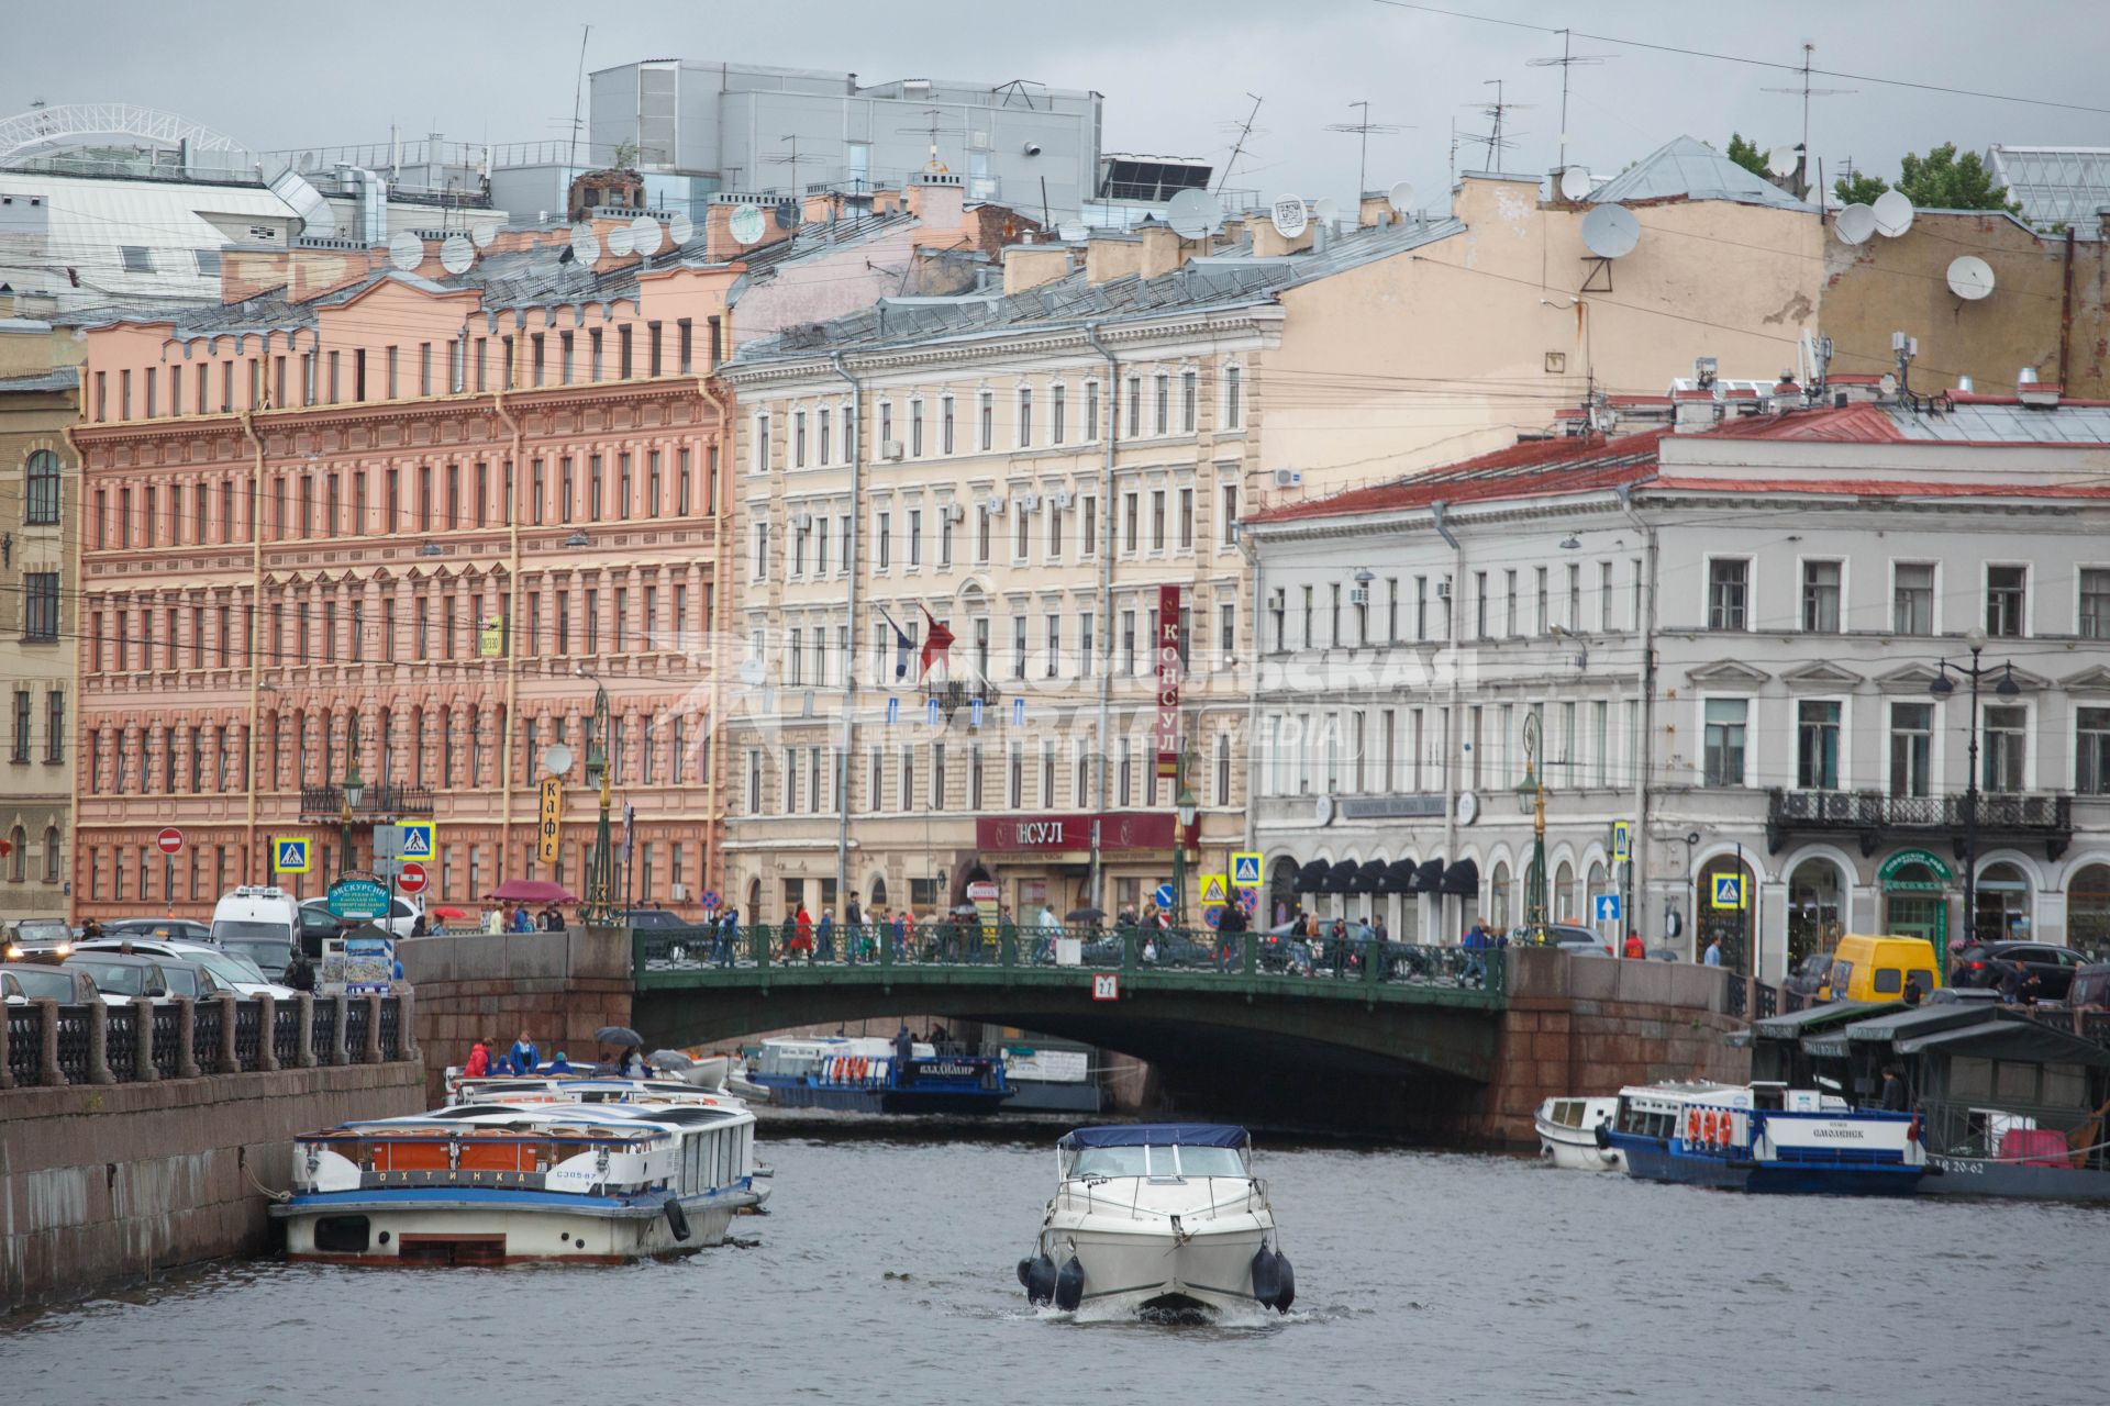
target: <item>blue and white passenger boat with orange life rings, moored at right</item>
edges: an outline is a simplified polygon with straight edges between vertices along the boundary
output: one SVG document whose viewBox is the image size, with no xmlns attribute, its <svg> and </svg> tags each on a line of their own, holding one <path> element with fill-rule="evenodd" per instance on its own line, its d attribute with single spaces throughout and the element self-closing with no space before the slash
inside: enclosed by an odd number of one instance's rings
<svg viewBox="0 0 2110 1406">
<path fill-rule="evenodd" d="M 1618 1092 L 1597 1136 L 1639 1180 L 1724 1191 L 1912 1195 L 1920 1119 L 1785 1083 L 1648 1083 Z"/>
</svg>

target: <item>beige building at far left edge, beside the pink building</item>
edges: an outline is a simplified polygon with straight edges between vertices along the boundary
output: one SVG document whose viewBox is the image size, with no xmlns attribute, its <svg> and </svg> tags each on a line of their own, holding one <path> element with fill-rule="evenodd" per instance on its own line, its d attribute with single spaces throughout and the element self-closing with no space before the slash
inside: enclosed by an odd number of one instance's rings
<svg viewBox="0 0 2110 1406">
<path fill-rule="evenodd" d="M 78 352 L 0 306 L 0 921 L 65 917 L 74 841 Z"/>
</svg>

